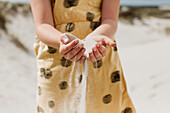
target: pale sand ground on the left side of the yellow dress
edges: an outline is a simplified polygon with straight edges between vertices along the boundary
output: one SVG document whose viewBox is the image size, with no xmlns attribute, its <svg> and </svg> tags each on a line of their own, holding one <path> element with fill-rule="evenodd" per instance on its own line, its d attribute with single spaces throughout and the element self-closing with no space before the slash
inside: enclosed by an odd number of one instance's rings
<svg viewBox="0 0 170 113">
<path fill-rule="evenodd" d="M 35 113 L 36 65 L 32 49 L 32 17 L 11 17 L 8 32 L 17 37 L 30 52 L 26 53 L 0 33 L 0 113 Z M 1 32 L 1 31 L 0 31 Z"/>
</svg>

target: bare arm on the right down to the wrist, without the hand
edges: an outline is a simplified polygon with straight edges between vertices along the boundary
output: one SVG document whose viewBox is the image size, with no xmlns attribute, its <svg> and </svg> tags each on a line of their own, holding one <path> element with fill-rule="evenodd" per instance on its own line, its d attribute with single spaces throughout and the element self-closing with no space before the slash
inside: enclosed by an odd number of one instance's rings
<svg viewBox="0 0 170 113">
<path fill-rule="evenodd" d="M 112 37 L 115 35 L 118 24 L 120 0 L 103 0 L 102 22 L 90 35 L 105 35 Z"/>
</svg>

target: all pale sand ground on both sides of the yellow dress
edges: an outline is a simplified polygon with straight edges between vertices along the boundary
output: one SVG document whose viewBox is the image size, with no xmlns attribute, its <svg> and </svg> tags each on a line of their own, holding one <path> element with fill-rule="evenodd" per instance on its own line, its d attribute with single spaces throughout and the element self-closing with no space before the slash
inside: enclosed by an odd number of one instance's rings
<svg viewBox="0 0 170 113">
<path fill-rule="evenodd" d="M 0 113 L 35 113 L 36 61 L 32 17 L 11 18 L 10 34 L 30 52 L 18 48 L 6 34 L 0 36 Z M 129 94 L 138 113 L 170 113 L 170 20 L 149 19 L 148 26 L 119 23 L 118 50 Z M 159 24 L 158 24 L 159 23 Z"/>
</svg>

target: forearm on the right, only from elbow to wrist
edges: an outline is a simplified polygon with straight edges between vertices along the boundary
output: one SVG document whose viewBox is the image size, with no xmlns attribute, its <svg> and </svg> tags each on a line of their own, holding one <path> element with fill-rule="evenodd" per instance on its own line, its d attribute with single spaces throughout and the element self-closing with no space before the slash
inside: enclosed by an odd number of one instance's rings
<svg viewBox="0 0 170 113">
<path fill-rule="evenodd" d="M 117 21 L 113 19 L 104 20 L 99 27 L 97 27 L 90 36 L 93 35 L 105 35 L 112 38 L 117 31 Z"/>
</svg>

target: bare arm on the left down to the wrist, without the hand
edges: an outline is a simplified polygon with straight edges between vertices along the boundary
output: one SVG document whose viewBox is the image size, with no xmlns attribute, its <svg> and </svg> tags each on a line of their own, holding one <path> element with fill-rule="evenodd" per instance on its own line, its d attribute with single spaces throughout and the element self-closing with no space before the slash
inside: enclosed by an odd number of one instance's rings
<svg viewBox="0 0 170 113">
<path fill-rule="evenodd" d="M 30 0 L 35 31 L 45 44 L 59 48 L 62 33 L 54 28 L 50 0 Z"/>
</svg>

